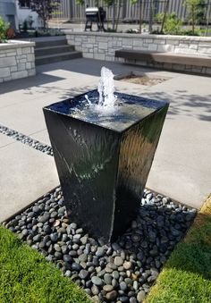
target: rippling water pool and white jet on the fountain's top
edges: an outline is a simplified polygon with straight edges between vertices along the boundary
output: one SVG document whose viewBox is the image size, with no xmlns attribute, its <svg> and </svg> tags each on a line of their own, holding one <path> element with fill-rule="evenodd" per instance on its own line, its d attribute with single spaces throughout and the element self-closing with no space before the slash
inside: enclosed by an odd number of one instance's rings
<svg viewBox="0 0 211 303">
<path fill-rule="evenodd" d="M 163 105 L 164 102 L 114 92 L 114 74 L 103 67 L 96 90 L 51 105 L 51 110 L 107 129 L 122 131 Z"/>
</svg>

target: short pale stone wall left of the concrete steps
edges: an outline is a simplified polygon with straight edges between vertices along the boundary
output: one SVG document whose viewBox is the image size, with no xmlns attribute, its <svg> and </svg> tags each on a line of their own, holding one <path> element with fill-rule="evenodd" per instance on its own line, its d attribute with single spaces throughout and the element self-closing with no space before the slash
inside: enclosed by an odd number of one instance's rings
<svg viewBox="0 0 211 303">
<path fill-rule="evenodd" d="M 0 44 L 0 83 L 36 74 L 34 46 L 16 40 Z"/>
</svg>

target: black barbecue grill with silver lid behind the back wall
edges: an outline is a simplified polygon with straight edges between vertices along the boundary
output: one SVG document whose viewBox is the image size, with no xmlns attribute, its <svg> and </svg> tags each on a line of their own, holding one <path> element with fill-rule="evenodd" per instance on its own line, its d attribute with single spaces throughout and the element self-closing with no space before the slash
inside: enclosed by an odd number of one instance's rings
<svg viewBox="0 0 211 303">
<path fill-rule="evenodd" d="M 97 30 L 104 30 L 104 21 L 106 17 L 106 13 L 103 9 L 103 7 L 88 7 L 85 10 L 86 14 L 86 25 L 85 25 L 85 31 L 87 29 L 92 30 L 92 23 L 97 23 Z"/>
</svg>

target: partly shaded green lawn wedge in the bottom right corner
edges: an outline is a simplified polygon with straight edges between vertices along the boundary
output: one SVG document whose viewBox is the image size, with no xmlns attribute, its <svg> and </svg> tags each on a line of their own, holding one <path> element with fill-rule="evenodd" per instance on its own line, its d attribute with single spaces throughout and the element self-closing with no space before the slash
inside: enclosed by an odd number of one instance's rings
<svg viewBox="0 0 211 303">
<path fill-rule="evenodd" d="M 211 302 L 211 197 L 173 250 L 146 302 Z"/>
</svg>

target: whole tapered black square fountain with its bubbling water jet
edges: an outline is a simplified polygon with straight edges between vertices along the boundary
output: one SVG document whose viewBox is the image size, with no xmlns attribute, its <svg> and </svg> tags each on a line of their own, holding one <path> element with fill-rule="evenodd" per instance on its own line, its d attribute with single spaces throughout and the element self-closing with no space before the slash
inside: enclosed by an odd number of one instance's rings
<svg viewBox="0 0 211 303">
<path fill-rule="evenodd" d="M 114 240 L 137 216 L 168 104 L 98 89 L 44 107 L 67 214 L 97 239 Z"/>
</svg>

